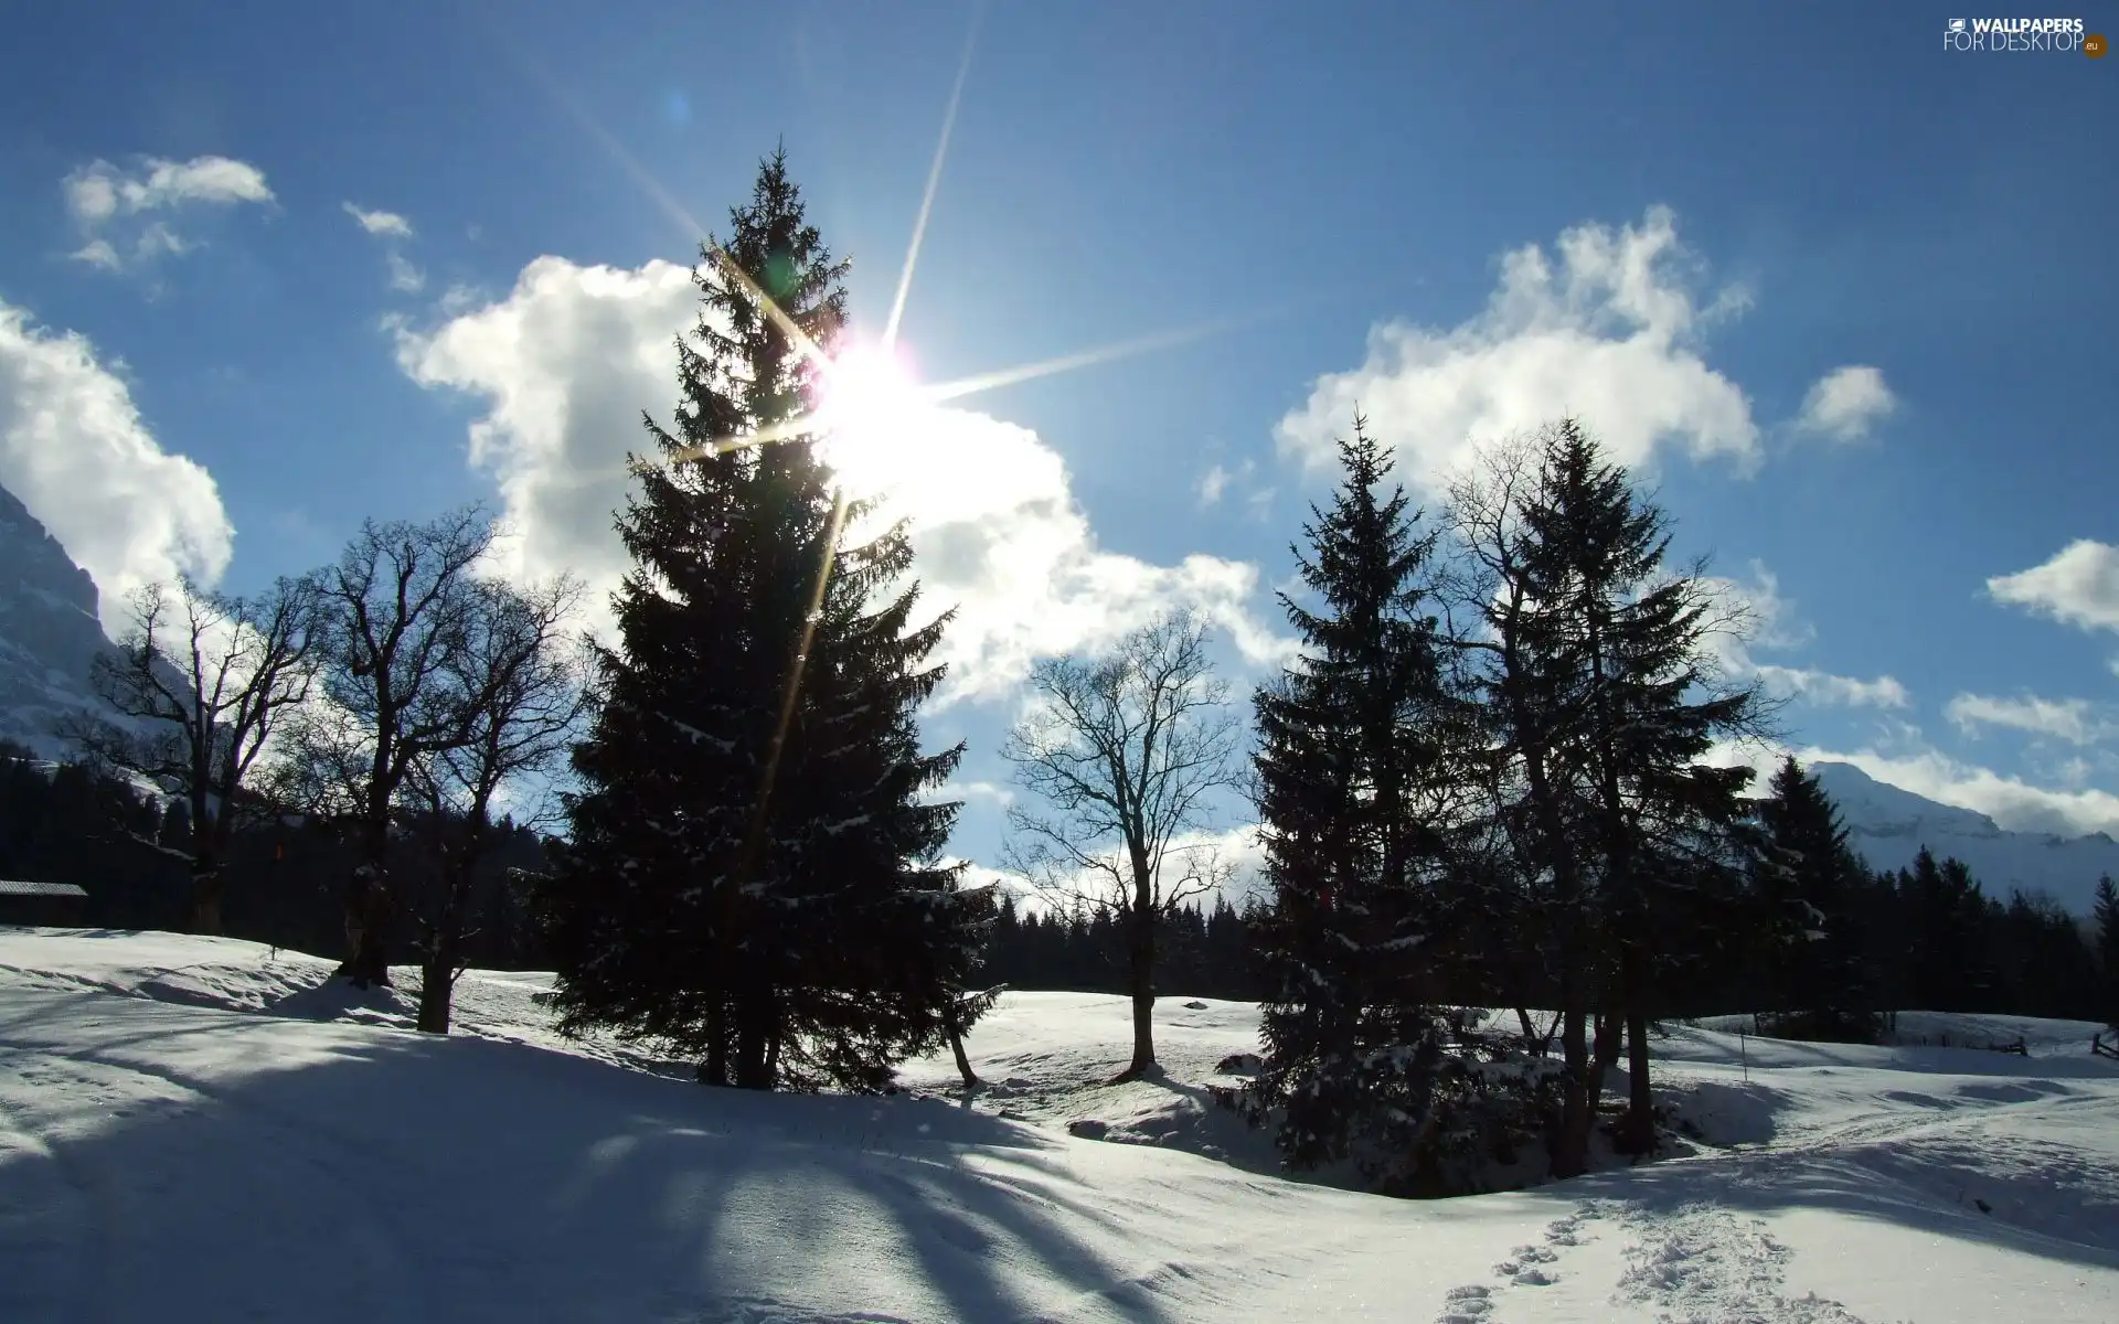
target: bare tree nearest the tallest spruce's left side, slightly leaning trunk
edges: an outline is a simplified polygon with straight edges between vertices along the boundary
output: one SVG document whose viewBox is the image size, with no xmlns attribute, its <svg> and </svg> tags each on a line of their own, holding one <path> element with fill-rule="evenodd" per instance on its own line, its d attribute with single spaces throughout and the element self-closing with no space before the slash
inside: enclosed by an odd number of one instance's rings
<svg viewBox="0 0 2119 1324">
<path fill-rule="evenodd" d="M 464 701 L 464 741 L 417 758 L 407 777 L 441 866 L 434 894 L 411 907 L 420 926 L 420 1030 L 449 1032 L 473 881 L 494 843 L 496 801 L 553 771 L 578 733 L 589 676 L 589 652 L 568 638 L 578 602 L 574 578 L 530 589 L 479 583 L 473 619 L 447 663 Z M 549 805 L 511 818 L 545 822 Z"/>
</svg>

